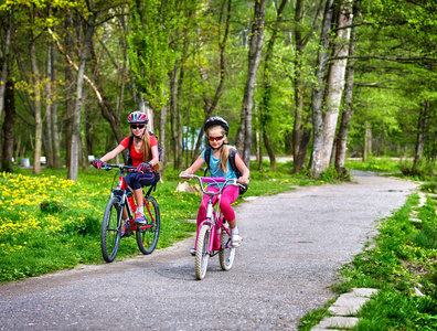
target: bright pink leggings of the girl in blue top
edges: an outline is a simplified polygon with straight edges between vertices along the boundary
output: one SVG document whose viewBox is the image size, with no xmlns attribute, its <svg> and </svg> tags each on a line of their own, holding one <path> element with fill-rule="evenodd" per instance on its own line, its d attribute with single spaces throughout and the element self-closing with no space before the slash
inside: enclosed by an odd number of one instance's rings
<svg viewBox="0 0 437 331">
<path fill-rule="evenodd" d="M 207 188 L 206 191 L 207 192 L 218 192 L 218 188 L 210 186 L 210 188 Z M 228 186 L 224 188 L 224 190 L 222 192 L 222 197 L 220 200 L 220 210 L 222 211 L 222 214 L 226 221 L 232 222 L 235 220 L 235 212 L 232 209 L 231 204 L 238 197 L 238 191 L 239 191 L 238 186 L 228 185 Z M 217 199 L 218 199 L 218 195 L 213 196 L 214 205 L 217 203 Z M 198 213 L 198 226 L 199 226 L 199 224 L 202 223 L 203 220 L 205 220 L 209 200 L 210 200 L 210 196 L 206 194 L 203 194 L 202 203 L 199 207 L 199 213 Z"/>
</svg>

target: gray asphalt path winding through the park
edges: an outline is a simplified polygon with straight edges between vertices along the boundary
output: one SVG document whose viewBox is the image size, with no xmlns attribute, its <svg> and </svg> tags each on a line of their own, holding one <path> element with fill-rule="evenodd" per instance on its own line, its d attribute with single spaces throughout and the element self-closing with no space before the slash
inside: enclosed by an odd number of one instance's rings
<svg viewBox="0 0 437 331">
<path fill-rule="evenodd" d="M 296 330 L 416 184 L 356 172 L 242 203 L 234 268 L 194 277 L 193 239 L 125 261 L 0 286 L 0 330 Z M 164 220 L 163 220 L 164 222 Z"/>
</svg>

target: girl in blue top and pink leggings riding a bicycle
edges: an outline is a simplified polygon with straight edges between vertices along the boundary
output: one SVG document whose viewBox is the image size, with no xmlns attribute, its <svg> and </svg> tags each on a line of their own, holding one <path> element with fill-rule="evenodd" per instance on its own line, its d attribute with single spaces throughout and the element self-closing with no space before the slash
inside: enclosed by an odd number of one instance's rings
<svg viewBox="0 0 437 331">
<path fill-rule="evenodd" d="M 227 135 L 230 132 L 230 126 L 227 121 L 221 117 L 211 117 L 205 121 L 204 129 L 206 132 L 207 141 L 212 148 L 212 153 L 210 157 L 210 170 L 211 177 L 215 178 L 226 178 L 233 179 L 237 178 L 235 172 L 232 170 L 228 157 L 230 157 L 230 147 L 227 143 Z M 205 162 L 205 151 L 185 171 L 180 173 L 181 178 L 184 178 L 186 174 L 194 174 Z M 239 156 L 235 157 L 235 166 L 243 173 L 241 178 L 238 178 L 239 184 L 246 184 L 249 178 L 249 170 L 244 163 L 243 159 Z M 222 197 L 220 200 L 220 209 L 224 218 L 227 221 L 231 227 L 232 234 L 232 247 L 236 248 L 242 245 L 242 236 L 239 235 L 238 227 L 235 220 L 235 212 L 232 209 L 231 204 L 238 197 L 238 186 L 227 185 L 223 192 Z M 214 184 L 211 184 L 207 188 L 207 191 L 217 192 L 218 188 Z M 206 215 L 206 206 L 207 206 L 209 196 L 204 195 L 202 199 L 202 203 L 199 207 L 198 213 L 198 227 L 200 223 L 205 218 Z M 217 196 L 214 196 L 213 203 L 216 204 Z M 192 254 L 195 253 L 193 248 L 191 249 Z"/>
</svg>

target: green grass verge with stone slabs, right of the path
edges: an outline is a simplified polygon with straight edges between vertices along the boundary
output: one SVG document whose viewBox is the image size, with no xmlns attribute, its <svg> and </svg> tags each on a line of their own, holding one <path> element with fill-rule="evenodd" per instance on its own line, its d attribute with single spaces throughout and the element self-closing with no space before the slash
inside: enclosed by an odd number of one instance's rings
<svg viewBox="0 0 437 331">
<path fill-rule="evenodd" d="M 437 216 L 436 202 L 417 207 L 418 194 L 380 224 L 380 234 L 367 243 L 341 276 L 345 281 L 332 286 L 338 293 L 352 288 L 376 288 L 379 293 L 359 312 L 353 330 L 437 330 Z M 418 211 L 422 223 L 409 221 Z M 419 288 L 424 296 L 416 296 Z M 328 307 L 307 313 L 299 330 L 310 330 Z"/>
</svg>

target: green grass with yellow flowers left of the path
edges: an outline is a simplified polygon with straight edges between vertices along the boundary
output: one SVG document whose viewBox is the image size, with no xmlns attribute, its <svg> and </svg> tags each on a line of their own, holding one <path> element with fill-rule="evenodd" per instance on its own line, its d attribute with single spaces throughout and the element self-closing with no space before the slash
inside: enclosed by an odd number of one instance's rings
<svg viewBox="0 0 437 331">
<path fill-rule="evenodd" d="M 291 168 L 290 168 L 291 167 Z M 276 194 L 294 185 L 320 184 L 303 175 L 291 177 L 291 164 L 280 171 L 252 171 L 243 196 Z M 115 171 L 86 169 L 78 181 L 67 181 L 66 170 L 15 168 L 0 173 L 0 282 L 19 280 L 78 264 L 102 264 L 100 226 L 110 190 L 118 181 Z M 199 172 L 198 174 L 203 174 Z M 161 212 L 157 249 L 168 247 L 195 232 L 186 222 L 196 216 L 200 195 L 174 192 L 179 171 L 166 170 L 163 183 L 152 195 Z M 190 181 L 190 184 L 196 182 Z M 243 202 L 238 197 L 234 205 Z M 121 239 L 117 260 L 140 254 L 135 236 Z"/>
</svg>

